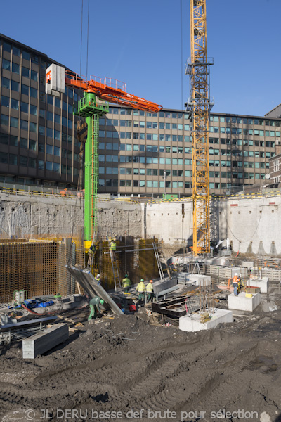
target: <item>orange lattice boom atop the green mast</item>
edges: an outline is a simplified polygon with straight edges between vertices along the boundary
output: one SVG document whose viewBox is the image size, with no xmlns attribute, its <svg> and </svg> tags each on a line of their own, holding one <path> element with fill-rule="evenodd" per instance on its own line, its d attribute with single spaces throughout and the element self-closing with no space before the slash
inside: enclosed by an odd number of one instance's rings
<svg viewBox="0 0 281 422">
<path fill-rule="evenodd" d="M 108 84 L 107 79 L 109 81 Z M 79 88 L 87 92 L 92 92 L 101 100 L 120 104 L 121 106 L 128 106 L 138 110 L 150 111 L 152 113 L 157 113 L 163 108 L 162 106 L 159 106 L 159 104 L 145 100 L 145 98 L 128 94 L 124 91 L 124 89 L 126 89 L 126 84 L 112 78 L 100 79 L 95 77 L 95 79 L 87 81 L 86 79 L 83 79 L 83 77 L 66 70 L 65 84 L 68 87 Z"/>
</svg>

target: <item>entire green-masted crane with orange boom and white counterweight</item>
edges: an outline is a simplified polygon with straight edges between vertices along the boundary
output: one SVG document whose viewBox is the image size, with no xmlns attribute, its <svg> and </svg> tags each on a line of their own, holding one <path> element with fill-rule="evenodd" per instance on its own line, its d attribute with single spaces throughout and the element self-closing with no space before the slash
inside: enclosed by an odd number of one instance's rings
<svg viewBox="0 0 281 422">
<path fill-rule="evenodd" d="M 52 64 L 46 69 L 46 94 L 59 96 L 65 87 L 81 89 L 83 98 L 78 102 L 77 112 L 86 119 L 88 126 L 85 143 L 85 241 L 93 243 L 98 235 L 98 135 L 100 116 L 108 113 L 109 102 L 157 113 L 162 106 L 126 92 L 126 84 L 116 79 L 91 77 L 86 80 L 60 65 Z"/>
</svg>

